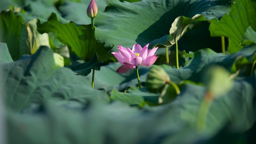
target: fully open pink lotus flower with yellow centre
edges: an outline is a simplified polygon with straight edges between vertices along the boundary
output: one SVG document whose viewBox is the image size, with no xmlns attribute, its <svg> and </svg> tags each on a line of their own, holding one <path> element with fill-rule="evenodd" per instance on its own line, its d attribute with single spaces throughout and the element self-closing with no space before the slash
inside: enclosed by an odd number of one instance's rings
<svg viewBox="0 0 256 144">
<path fill-rule="evenodd" d="M 132 47 L 132 50 L 129 48 L 124 48 L 118 45 L 119 52 L 112 52 L 112 54 L 116 57 L 118 62 L 122 64 L 121 67 L 116 70 L 118 73 L 126 73 L 130 69 L 134 69 L 138 65 L 142 65 L 143 67 L 149 67 L 153 63 L 155 63 L 158 56 L 156 56 L 155 52 L 158 49 L 147 49 L 149 44 L 141 48 L 139 44 L 136 44 Z"/>
</svg>

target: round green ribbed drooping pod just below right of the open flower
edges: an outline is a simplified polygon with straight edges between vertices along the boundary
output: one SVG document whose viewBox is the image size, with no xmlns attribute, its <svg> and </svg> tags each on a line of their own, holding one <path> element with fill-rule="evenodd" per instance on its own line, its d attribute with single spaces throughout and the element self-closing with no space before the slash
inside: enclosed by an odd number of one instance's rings
<svg viewBox="0 0 256 144">
<path fill-rule="evenodd" d="M 146 88 L 150 92 L 161 92 L 166 83 L 170 82 L 168 74 L 160 67 L 153 66 L 147 74 Z"/>
</svg>

